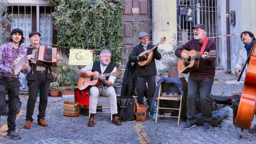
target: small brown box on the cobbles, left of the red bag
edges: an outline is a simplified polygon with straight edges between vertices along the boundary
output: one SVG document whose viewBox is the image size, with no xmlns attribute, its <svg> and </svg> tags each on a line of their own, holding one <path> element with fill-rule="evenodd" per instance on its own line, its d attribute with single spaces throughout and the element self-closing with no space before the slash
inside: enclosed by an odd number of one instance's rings
<svg viewBox="0 0 256 144">
<path fill-rule="evenodd" d="M 63 103 L 63 116 L 79 116 L 82 104 L 74 101 L 64 101 Z"/>
</svg>

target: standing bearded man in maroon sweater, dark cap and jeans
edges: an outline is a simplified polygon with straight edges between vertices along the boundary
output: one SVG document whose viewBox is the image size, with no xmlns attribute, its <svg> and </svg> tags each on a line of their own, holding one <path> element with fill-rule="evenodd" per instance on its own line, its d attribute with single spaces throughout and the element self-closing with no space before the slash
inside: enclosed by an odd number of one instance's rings
<svg viewBox="0 0 256 144">
<path fill-rule="evenodd" d="M 194 32 L 194 39 L 191 39 L 180 48 L 176 49 L 175 55 L 182 59 L 188 59 L 188 55 L 182 50 L 195 50 L 199 51 L 203 48 L 204 40 L 206 38 L 205 29 L 203 24 L 197 24 L 192 27 Z M 216 50 L 216 44 L 212 40 L 208 40 L 204 53 Z M 206 54 L 202 55 L 199 60 L 197 68 L 189 73 L 188 77 L 188 98 L 187 98 L 187 124 L 183 126 L 184 130 L 195 127 L 195 97 L 198 89 L 200 89 L 200 102 L 202 109 L 202 117 L 204 119 L 203 131 L 210 131 L 212 127 L 212 109 L 210 104 L 210 94 L 212 91 L 212 84 L 215 76 L 215 57 L 209 57 Z"/>
</svg>

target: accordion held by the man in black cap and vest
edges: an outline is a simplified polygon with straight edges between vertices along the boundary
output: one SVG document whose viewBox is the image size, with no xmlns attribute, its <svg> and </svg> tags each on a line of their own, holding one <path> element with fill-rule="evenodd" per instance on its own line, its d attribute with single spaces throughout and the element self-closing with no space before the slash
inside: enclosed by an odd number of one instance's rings
<svg viewBox="0 0 256 144">
<path fill-rule="evenodd" d="M 43 45 L 40 45 L 38 49 L 32 51 L 34 59 L 31 61 L 35 65 L 46 65 L 57 67 L 57 59 L 55 58 L 57 53 L 57 48 L 47 48 Z"/>
</svg>

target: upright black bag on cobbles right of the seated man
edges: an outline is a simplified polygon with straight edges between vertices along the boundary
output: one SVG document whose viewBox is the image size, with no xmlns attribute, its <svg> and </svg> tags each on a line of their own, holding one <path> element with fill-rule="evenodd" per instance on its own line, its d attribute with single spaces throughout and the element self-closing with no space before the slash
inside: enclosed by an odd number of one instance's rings
<svg viewBox="0 0 256 144">
<path fill-rule="evenodd" d="M 117 112 L 121 121 L 132 121 L 136 119 L 135 99 L 131 96 L 118 96 L 117 97 Z"/>
</svg>

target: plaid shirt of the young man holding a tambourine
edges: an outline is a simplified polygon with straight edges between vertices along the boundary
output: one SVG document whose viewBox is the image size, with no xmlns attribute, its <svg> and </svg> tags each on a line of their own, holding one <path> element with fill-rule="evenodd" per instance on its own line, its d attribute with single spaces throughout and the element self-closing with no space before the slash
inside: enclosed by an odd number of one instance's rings
<svg viewBox="0 0 256 144">
<path fill-rule="evenodd" d="M 0 76 L 5 77 L 19 77 L 12 76 L 11 70 L 12 70 L 12 64 L 16 60 L 16 58 L 20 55 L 28 55 L 27 51 L 23 47 L 19 47 L 17 50 L 14 49 L 12 42 L 3 44 L 0 47 Z M 28 59 L 27 59 L 28 61 Z M 21 72 L 24 74 L 28 74 L 31 68 L 28 66 L 27 69 L 21 69 Z"/>
</svg>

